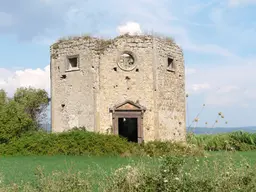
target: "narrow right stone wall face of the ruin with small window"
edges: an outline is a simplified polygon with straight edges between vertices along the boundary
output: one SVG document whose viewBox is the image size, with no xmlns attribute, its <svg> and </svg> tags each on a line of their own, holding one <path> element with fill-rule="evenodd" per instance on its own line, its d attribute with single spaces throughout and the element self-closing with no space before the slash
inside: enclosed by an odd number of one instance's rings
<svg viewBox="0 0 256 192">
<path fill-rule="evenodd" d="M 157 47 L 157 111 L 161 140 L 185 140 L 185 68 L 183 52 L 175 44 L 155 40 Z M 168 67 L 168 58 L 173 66 Z"/>
</svg>

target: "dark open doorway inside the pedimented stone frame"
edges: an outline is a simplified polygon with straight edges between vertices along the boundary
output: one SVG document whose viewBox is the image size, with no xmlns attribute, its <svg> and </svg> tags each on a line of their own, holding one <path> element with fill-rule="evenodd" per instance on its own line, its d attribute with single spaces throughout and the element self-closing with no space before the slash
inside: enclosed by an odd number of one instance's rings
<svg viewBox="0 0 256 192">
<path fill-rule="evenodd" d="M 119 136 L 126 138 L 130 142 L 138 142 L 138 119 L 118 118 Z"/>
</svg>

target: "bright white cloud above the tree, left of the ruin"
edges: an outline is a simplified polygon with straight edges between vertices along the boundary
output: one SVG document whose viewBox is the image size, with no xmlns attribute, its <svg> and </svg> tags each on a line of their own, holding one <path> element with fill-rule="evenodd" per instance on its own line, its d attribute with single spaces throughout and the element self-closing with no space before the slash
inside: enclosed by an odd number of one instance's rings
<svg viewBox="0 0 256 192">
<path fill-rule="evenodd" d="M 50 93 L 50 65 L 44 69 L 0 69 L 0 73 L 0 89 L 7 91 L 9 96 L 12 96 L 17 88 L 29 86 L 45 89 Z"/>
</svg>

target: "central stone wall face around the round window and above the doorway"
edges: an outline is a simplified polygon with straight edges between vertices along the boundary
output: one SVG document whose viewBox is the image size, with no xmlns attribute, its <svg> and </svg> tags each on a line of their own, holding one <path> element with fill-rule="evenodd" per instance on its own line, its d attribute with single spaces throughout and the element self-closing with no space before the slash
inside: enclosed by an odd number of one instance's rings
<svg viewBox="0 0 256 192">
<path fill-rule="evenodd" d="M 127 51 L 135 58 L 135 68 L 122 70 L 118 66 L 119 56 Z M 150 37 L 124 37 L 116 39 L 100 58 L 100 93 L 97 111 L 99 127 L 105 132 L 112 125 L 109 108 L 131 100 L 139 101 L 147 108 L 144 114 L 144 139 L 154 139 L 153 101 L 153 49 Z"/>
</svg>

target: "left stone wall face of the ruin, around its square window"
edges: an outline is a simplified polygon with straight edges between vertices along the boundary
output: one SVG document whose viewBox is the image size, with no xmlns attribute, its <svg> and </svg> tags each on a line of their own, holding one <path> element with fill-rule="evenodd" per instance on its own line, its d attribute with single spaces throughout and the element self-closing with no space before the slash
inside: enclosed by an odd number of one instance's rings
<svg viewBox="0 0 256 192">
<path fill-rule="evenodd" d="M 95 39 L 59 42 L 51 47 L 52 129 L 94 128 L 94 86 L 99 57 Z M 67 56 L 79 55 L 79 70 L 67 70 Z"/>
</svg>

